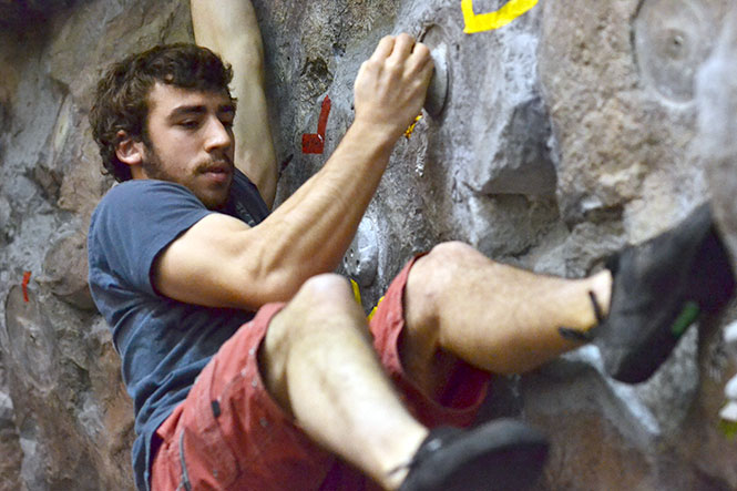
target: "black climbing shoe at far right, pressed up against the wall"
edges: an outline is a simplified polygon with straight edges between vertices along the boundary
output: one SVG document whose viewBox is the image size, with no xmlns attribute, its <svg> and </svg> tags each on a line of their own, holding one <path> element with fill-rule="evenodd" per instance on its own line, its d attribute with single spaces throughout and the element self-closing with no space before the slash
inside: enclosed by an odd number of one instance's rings
<svg viewBox="0 0 737 491">
<path fill-rule="evenodd" d="M 735 293 L 727 252 L 708 205 L 672 231 L 607 262 L 614 284 L 607 318 L 591 333 L 606 371 L 647 380 L 702 313 L 717 313 Z"/>
</svg>

